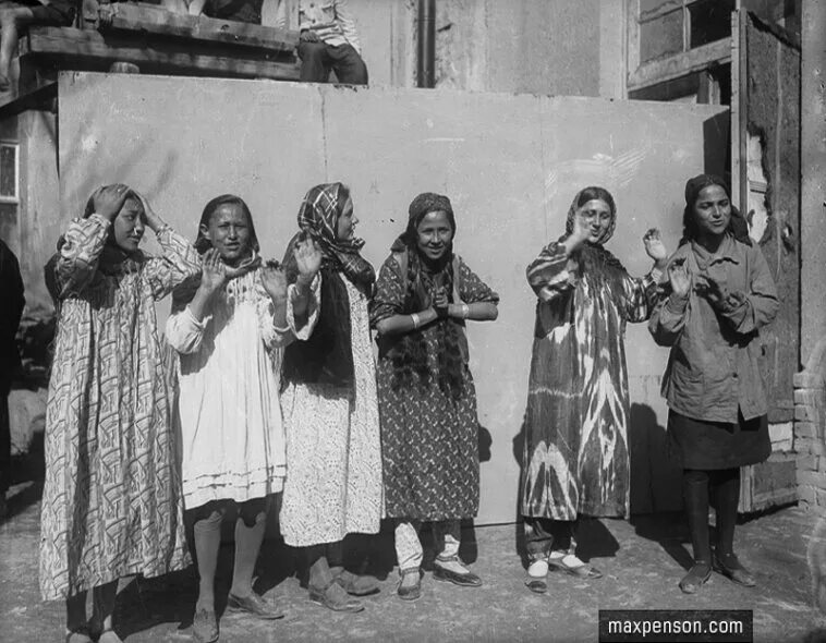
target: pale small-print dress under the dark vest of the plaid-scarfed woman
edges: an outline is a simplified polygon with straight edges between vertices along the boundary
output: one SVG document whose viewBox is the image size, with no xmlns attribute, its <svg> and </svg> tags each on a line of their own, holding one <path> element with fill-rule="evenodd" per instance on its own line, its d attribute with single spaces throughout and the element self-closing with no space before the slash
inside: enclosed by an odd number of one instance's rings
<svg viewBox="0 0 826 643">
<path fill-rule="evenodd" d="M 354 391 L 290 383 L 281 393 L 287 480 L 279 515 L 293 547 L 337 543 L 349 533 L 378 533 L 381 520 L 376 366 L 367 298 L 337 274 L 350 301 Z M 321 303 L 324 305 L 324 302 Z"/>
</svg>

